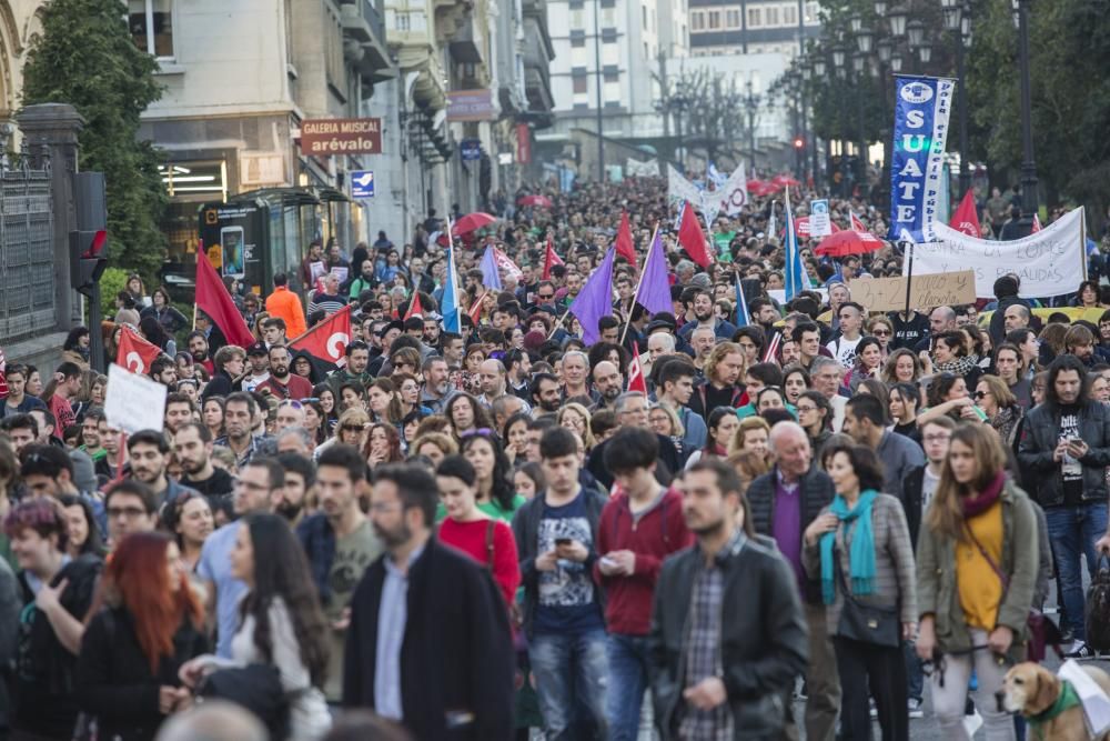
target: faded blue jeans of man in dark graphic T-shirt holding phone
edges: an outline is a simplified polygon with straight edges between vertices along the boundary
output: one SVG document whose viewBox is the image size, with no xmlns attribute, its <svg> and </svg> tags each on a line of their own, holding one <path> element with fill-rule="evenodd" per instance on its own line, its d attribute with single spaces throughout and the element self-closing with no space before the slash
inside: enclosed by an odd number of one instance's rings
<svg viewBox="0 0 1110 741">
<path fill-rule="evenodd" d="M 608 685 L 605 631 L 535 635 L 528 644 L 528 660 L 536 678 L 547 739 L 571 741 L 575 738 L 576 707 L 587 710 L 604 738 Z"/>
</svg>

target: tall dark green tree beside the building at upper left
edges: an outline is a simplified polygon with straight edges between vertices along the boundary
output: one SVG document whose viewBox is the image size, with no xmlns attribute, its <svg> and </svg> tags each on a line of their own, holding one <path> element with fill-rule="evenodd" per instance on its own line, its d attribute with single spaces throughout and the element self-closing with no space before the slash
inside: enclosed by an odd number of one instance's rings
<svg viewBox="0 0 1110 741">
<path fill-rule="evenodd" d="M 153 279 L 165 253 L 168 197 L 139 116 L 162 90 L 158 62 L 131 39 L 120 0 L 51 0 L 23 71 L 23 104 L 65 102 L 85 124 L 79 167 L 104 173 L 112 264 Z"/>
</svg>

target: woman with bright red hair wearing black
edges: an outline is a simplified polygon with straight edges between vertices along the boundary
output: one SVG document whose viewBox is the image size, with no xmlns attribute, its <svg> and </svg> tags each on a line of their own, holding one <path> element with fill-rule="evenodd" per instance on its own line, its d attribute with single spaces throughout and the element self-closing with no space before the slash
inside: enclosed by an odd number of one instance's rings
<svg viewBox="0 0 1110 741">
<path fill-rule="evenodd" d="M 74 672 L 79 705 L 98 719 L 100 738 L 153 739 L 188 703 L 178 671 L 208 650 L 204 609 L 173 539 L 137 532 L 120 541 L 90 614 Z"/>
</svg>

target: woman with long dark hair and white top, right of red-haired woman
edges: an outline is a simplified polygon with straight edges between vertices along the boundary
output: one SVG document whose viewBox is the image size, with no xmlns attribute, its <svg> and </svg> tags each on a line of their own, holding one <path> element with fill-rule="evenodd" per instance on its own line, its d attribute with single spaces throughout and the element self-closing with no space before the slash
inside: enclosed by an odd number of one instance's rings
<svg viewBox="0 0 1110 741">
<path fill-rule="evenodd" d="M 320 608 L 304 551 L 278 514 L 241 520 L 231 552 L 231 574 L 248 585 L 240 602 L 231 661 L 203 655 L 181 668 L 195 688 L 220 668 L 264 663 L 278 670 L 289 701 L 290 741 L 317 741 L 331 728 L 321 688 L 326 680 L 331 628 Z"/>
</svg>

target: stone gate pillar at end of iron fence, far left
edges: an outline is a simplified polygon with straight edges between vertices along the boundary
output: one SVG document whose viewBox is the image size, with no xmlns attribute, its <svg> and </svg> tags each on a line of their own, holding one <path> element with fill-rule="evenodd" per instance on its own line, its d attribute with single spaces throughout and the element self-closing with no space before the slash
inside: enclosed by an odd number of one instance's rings
<svg viewBox="0 0 1110 741">
<path fill-rule="evenodd" d="M 80 324 L 81 302 L 70 281 L 69 232 L 77 228 L 73 207 L 73 173 L 77 172 L 78 134 L 84 119 L 69 103 L 28 106 L 17 118 L 23 133 L 31 167 L 43 167 L 43 156 L 50 160 L 50 190 L 53 198 L 54 228 L 54 316 L 58 331 L 69 331 Z M 99 327 L 89 328 L 99 332 Z"/>
</svg>

